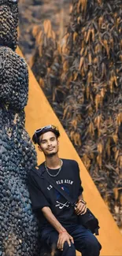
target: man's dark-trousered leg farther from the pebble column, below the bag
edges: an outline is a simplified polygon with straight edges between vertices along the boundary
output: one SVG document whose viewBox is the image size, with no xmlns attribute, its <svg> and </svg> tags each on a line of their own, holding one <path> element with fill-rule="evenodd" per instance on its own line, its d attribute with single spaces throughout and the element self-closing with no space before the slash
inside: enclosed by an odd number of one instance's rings
<svg viewBox="0 0 122 256">
<path fill-rule="evenodd" d="M 87 228 L 79 224 L 71 224 L 65 228 L 73 237 L 76 250 L 79 250 L 82 256 L 99 256 L 101 244 Z"/>
</svg>

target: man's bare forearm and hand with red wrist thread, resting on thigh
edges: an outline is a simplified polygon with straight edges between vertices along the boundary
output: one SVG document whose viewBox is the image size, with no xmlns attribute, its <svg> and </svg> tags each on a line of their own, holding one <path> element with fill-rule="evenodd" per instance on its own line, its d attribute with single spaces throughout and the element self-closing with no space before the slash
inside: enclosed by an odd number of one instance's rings
<svg viewBox="0 0 122 256">
<path fill-rule="evenodd" d="M 57 230 L 59 233 L 58 241 L 57 241 L 57 248 L 59 250 L 63 250 L 64 243 L 67 241 L 69 247 L 71 247 L 71 241 L 74 243 L 74 240 L 72 236 L 68 234 L 66 229 L 61 225 L 59 221 L 57 221 L 57 218 L 54 216 L 52 211 L 50 210 L 50 207 L 43 207 L 42 209 L 44 217 L 46 217 L 46 220 L 49 221 L 49 223 Z"/>
</svg>

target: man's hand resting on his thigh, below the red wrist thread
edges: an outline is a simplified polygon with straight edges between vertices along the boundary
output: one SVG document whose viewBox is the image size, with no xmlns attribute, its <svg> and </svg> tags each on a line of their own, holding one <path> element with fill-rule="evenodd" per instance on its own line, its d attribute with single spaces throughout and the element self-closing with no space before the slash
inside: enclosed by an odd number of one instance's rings
<svg viewBox="0 0 122 256">
<path fill-rule="evenodd" d="M 59 250 L 63 250 L 65 242 L 68 243 L 69 247 L 71 247 L 71 242 L 74 243 L 72 236 L 70 236 L 66 230 L 59 233 L 58 241 L 57 241 L 57 248 Z"/>
</svg>

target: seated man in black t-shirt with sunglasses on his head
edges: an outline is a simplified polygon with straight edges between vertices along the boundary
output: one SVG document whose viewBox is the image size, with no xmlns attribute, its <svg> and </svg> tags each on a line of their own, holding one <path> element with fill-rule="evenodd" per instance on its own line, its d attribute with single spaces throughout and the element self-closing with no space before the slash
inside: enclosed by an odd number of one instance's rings
<svg viewBox="0 0 122 256">
<path fill-rule="evenodd" d="M 54 249 L 54 255 L 75 256 L 79 250 L 82 256 L 98 256 L 100 243 L 87 228 L 78 224 L 78 215 L 87 211 L 79 166 L 76 161 L 58 157 L 59 136 L 55 126 L 47 125 L 36 130 L 32 137 L 46 158 L 39 169 L 31 171 L 28 176 L 32 207 L 39 217 L 41 242 L 45 242 L 50 251 Z M 43 177 L 43 172 L 76 199 L 75 209 Z"/>
</svg>

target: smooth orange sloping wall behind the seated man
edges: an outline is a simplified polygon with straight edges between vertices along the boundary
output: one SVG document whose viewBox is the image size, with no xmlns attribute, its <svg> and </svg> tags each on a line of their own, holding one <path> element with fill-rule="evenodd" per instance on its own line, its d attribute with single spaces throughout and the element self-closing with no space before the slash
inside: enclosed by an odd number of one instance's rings
<svg viewBox="0 0 122 256">
<path fill-rule="evenodd" d="M 19 49 L 17 49 L 17 53 L 22 56 Z M 40 128 L 46 124 L 54 124 L 59 128 L 61 132 L 59 155 L 61 158 L 69 158 L 78 161 L 84 188 L 84 200 L 87 201 L 87 205 L 90 207 L 91 211 L 98 217 L 101 226 L 100 235 L 98 236 L 98 240 L 102 243 L 101 256 L 122 256 L 122 235 L 120 234 L 120 230 L 117 228 L 115 221 L 113 221 L 113 217 L 109 213 L 107 206 L 105 206 L 105 202 L 102 200 L 91 176 L 84 167 L 83 162 L 80 160 L 79 155 L 68 139 L 64 128 L 61 126 L 60 121 L 35 80 L 31 69 L 29 69 L 29 80 L 29 99 L 28 106 L 25 108 L 25 126 L 29 135 L 31 136 L 36 128 Z M 44 160 L 43 154 L 38 150 L 37 153 L 40 163 Z M 78 253 L 77 255 L 80 254 Z"/>
</svg>

